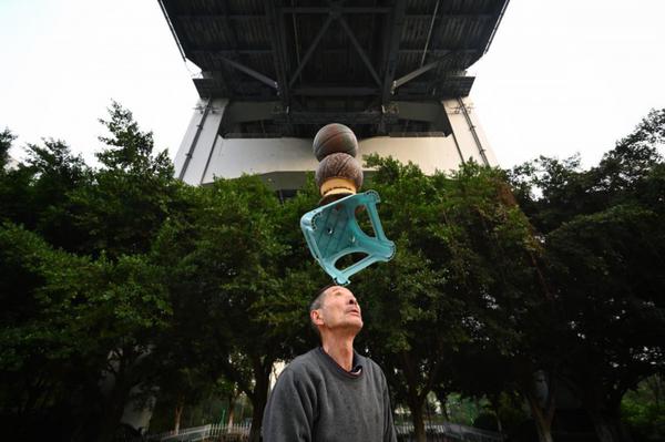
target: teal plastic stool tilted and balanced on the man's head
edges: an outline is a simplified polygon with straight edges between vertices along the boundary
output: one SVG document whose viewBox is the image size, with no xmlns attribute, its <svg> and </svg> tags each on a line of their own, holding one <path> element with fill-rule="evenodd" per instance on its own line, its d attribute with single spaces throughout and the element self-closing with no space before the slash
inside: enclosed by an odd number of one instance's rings
<svg viewBox="0 0 665 442">
<path fill-rule="evenodd" d="M 307 246 L 318 264 L 336 284 L 349 284 L 349 277 L 376 261 L 388 261 L 395 256 L 395 243 L 389 240 L 381 227 L 377 203 L 381 199 L 375 191 L 349 195 L 306 213 L 300 218 L 300 228 Z M 365 206 L 376 233 L 367 235 L 356 219 L 356 208 Z M 367 256 L 345 269 L 338 269 L 339 258 L 360 253 Z"/>
</svg>

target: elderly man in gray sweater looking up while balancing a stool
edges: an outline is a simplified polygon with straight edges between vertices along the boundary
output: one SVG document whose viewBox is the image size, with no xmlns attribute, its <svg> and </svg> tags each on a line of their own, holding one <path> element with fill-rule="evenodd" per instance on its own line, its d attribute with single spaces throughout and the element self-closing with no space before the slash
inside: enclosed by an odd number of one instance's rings
<svg viewBox="0 0 665 442">
<path fill-rule="evenodd" d="M 309 319 L 321 347 L 294 359 L 279 376 L 264 414 L 264 441 L 397 441 L 386 377 L 354 350 L 362 328 L 354 294 L 324 288 Z"/>
</svg>

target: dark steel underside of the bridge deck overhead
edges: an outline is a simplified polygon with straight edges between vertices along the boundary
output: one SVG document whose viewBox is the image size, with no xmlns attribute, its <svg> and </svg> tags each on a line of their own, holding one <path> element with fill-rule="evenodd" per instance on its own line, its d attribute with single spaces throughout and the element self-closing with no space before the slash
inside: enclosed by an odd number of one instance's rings
<svg viewBox="0 0 665 442">
<path fill-rule="evenodd" d="M 508 0 L 161 0 L 224 137 L 448 135 Z"/>
</svg>

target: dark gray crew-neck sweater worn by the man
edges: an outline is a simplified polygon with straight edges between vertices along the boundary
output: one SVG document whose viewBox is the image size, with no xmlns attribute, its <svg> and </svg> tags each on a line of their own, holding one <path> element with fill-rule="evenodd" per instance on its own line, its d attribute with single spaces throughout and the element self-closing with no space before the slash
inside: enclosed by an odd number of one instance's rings
<svg viewBox="0 0 665 442">
<path fill-rule="evenodd" d="M 352 372 L 321 348 L 294 359 L 268 398 L 264 441 L 396 442 L 383 372 L 358 353 Z"/>
</svg>

